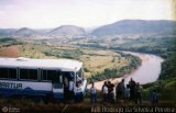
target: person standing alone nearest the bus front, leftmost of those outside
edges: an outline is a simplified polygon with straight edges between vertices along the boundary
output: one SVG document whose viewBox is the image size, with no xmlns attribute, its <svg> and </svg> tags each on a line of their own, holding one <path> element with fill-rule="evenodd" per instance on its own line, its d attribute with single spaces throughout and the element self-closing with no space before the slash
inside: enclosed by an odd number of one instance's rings
<svg viewBox="0 0 176 113">
<path fill-rule="evenodd" d="M 97 102 L 97 89 L 95 88 L 95 83 L 92 82 L 92 86 L 90 88 L 90 103 Z"/>
</svg>

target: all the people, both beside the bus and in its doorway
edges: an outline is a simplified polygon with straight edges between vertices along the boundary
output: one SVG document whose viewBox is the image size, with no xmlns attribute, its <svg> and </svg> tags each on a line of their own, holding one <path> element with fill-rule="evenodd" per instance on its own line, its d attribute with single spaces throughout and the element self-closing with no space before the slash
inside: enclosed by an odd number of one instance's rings
<svg viewBox="0 0 176 113">
<path fill-rule="evenodd" d="M 74 100 L 74 78 L 64 78 L 65 101 L 70 102 Z M 92 82 L 90 88 L 91 104 L 97 102 L 97 89 Z M 105 104 L 107 102 L 125 103 L 128 101 L 142 104 L 142 86 L 140 82 L 135 82 L 132 78 L 128 84 L 124 83 L 124 79 L 122 79 L 118 84 L 114 84 L 111 81 L 105 81 L 101 88 L 101 97 Z M 155 90 L 151 92 L 151 103 L 158 103 L 158 94 Z"/>
</svg>

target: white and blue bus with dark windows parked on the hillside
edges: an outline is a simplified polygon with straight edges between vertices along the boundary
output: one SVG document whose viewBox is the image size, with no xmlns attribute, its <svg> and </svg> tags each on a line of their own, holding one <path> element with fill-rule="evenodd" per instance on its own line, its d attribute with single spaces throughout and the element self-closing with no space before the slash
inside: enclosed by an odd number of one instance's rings
<svg viewBox="0 0 176 113">
<path fill-rule="evenodd" d="M 34 95 L 63 100 L 69 80 L 74 97 L 82 100 L 87 80 L 82 63 L 73 59 L 0 58 L 0 95 Z"/>
</svg>

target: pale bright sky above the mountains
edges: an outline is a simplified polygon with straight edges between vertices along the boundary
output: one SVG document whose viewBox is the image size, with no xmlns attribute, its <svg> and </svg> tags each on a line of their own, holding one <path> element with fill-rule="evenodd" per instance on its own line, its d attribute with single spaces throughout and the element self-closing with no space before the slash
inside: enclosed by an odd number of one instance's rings
<svg viewBox="0 0 176 113">
<path fill-rule="evenodd" d="M 173 20 L 172 0 L 0 0 L 0 27 L 96 27 L 120 20 Z"/>
</svg>

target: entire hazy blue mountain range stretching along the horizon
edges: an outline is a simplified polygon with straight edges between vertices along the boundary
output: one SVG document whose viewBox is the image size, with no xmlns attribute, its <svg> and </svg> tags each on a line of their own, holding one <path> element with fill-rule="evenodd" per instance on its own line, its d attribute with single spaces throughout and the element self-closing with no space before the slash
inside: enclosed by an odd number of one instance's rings
<svg viewBox="0 0 176 113">
<path fill-rule="evenodd" d="M 21 29 L 0 29 L 0 36 L 13 37 L 37 37 L 37 36 L 106 36 L 119 34 L 173 34 L 176 30 L 176 21 L 144 21 L 144 20 L 122 20 L 112 24 L 99 26 L 91 32 L 75 25 L 62 25 L 55 29 L 34 30 L 29 27 Z"/>
</svg>

